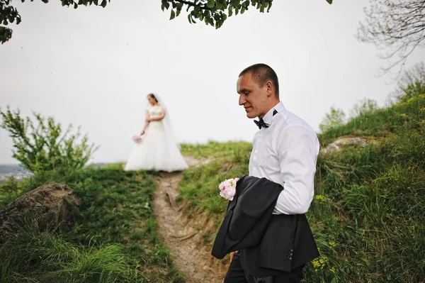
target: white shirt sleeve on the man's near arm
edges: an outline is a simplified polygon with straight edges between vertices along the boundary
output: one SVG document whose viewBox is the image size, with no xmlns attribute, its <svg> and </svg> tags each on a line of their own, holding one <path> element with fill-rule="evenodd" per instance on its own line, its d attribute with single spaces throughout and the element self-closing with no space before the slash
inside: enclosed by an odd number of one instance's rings
<svg viewBox="0 0 425 283">
<path fill-rule="evenodd" d="M 278 135 L 276 151 L 280 164 L 283 191 L 273 214 L 302 214 L 310 208 L 314 196 L 319 141 L 303 126 L 290 126 Z"/>
</svg>

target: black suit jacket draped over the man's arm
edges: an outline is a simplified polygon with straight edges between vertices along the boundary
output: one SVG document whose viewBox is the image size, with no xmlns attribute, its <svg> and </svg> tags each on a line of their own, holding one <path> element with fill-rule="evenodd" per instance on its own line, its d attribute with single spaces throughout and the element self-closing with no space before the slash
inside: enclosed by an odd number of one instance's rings
<svg viewBox="0 0 425 283">
<path fill-rule="evenodd" d="M 272 214 L 282 190 L 266 178 L 241 177 L 212 255 L 221 259 L 239 250 L 242 267 L 256 277 L 290 272 L 318 257 L 305 214 Z"/>
</svg>

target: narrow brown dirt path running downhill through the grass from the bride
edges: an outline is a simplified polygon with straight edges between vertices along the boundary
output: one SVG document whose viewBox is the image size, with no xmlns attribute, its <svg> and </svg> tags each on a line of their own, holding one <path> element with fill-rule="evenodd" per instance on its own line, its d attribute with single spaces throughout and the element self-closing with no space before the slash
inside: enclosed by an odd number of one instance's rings
<svg viewBox="0 0 425 283">
<path fill-rule="evenodd" d="M 189 166 L 200 164 L 193 157 L 185 157 Z M 209 162 L 205 160 L 202 163 Z M 176 207 L 179 194 L 180 172 L 162 173 L 157 179 L 154 194 L 154 215 L 159 224 L 159 233 L 165 240 L 176 260 L 176 265 L 186 275 L 187 283 L 222 283 L 227 267 L 212 257 L 211 250 L 205 248 L 202 233 L 211 227 L 211 221 L 201 217 L 188 219 Z"/>
</svg>

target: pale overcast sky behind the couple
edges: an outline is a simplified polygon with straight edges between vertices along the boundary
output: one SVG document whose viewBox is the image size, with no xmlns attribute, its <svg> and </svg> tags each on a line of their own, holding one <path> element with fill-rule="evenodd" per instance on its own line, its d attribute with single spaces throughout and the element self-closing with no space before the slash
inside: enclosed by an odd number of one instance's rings
<svg viewBox="0 0 425 283">
<path fill-rule="evenodd" d="M 81 126 L 100 145 L 91 162 L 125 161 L 142 129 L 146 95 L 162 96 L 179 140 L 251 141 L 257 131 L 238 105 L 237 75 L 263 62 L 277 72 L 280 100 L 318 131 L 331 106 L 346 113 L 359 99 L 385 104 L 395 88 L 376 77 L 384 63 L 355 38 L 368 0 L 273 1 L 228 18 L 215 30 L 169 21 L 160 0 L 112 0 L 105 9 L 60 1 L 13 1 L 22 23 L 0 45 L 0 107 L 37 111 Z M 407 65 L 424 60 L 414 52 Z M 0 129 L 0 164 L 13 164 Z"/>
</svg>

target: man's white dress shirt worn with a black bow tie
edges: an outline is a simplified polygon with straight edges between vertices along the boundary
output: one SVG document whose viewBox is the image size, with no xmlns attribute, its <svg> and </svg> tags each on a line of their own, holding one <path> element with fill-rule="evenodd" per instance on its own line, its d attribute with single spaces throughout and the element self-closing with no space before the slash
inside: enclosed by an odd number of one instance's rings
<svg viewBox="0 0 425 283">
<path fill-rule="evenodd" d="M 254 135 L 249 175 L 283 186 L 273 214 L 306 213 L 314 196 L 317 135 L 281 102 L 266 113 L 263 121 L 268 128 L 261 128 Z"/>
</svg>

